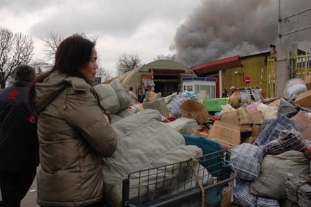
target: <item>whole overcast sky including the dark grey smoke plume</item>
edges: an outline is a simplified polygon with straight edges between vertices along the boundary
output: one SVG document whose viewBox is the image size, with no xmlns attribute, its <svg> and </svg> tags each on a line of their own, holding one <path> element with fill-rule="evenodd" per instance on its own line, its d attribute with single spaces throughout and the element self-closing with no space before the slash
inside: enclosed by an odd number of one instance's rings
<svg viewBox="0 0 311 207">
<path fill-rule="evenodd" d="M 228 55 L 265 51 L 276 44 L 277 2 L 0 0 L 0 27 L 31 35 L 35 58 L 44 56 L 39 37 L 49 32 L 64 37 L 85 33 L 97 38 L 100 65 L 112 71 L 122 53 L 136 53 L 142 63 L 152 62 L 156 55 L 177 53 L 178 60 L 196 66 Z M 283 15 L 311 8 L 311 0 L 281 3 Z M 305 26 L 311 25 L 311 13 L 300 18 Z M 299 47 L 307 51 L 311 50 L 310 39 L 311 30 L 284 38 L 300 41 Z"/>
</svg>

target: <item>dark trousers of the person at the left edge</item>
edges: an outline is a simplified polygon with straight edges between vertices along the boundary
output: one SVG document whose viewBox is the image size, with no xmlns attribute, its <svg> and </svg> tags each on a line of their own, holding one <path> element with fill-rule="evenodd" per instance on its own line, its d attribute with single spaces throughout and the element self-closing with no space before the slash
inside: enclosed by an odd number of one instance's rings
<svg viewBox="0 0 311 207">
<path fill-rule="evenodd" d="M 21 206 L 21 199 L 23 199 L 28 192 L 32 181 L 35 179 L 36 172 L 36 169 L 0 172 L 3 207 Z"/>
</svg>

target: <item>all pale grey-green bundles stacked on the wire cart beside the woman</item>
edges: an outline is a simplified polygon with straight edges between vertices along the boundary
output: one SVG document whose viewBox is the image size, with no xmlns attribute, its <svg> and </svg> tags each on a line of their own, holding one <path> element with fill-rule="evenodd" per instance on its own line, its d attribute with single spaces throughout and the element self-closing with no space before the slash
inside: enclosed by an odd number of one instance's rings
<svg viewBox="0 0 311 207">
<path fill-rule="evenodd" d="M 165 114 L 160 114 L 159 111 L 153 109 L 134 111 L 132 108 L 129 110 L 129 94 L 119 82 L 99 84 L 95 90 L 104 108 L 111 111 L 113 120 L 111 127 L 117 136 L 115 153 L 111 157 L 102 159 L 104 196 L 111 206 L 122 206 L 122 181 L 130 173 L 202 156 L 200 147 L 186 145 L 182 134 L 176 132 L 170 123 L 161 121 L 165 120 Z M 171 99 L 173 100 L 173 97 Z M 198 123 L 195 126 L 197 127 Z M 147 174 L 136 175 L 134 179 L 131 179 L 133 189 L 129 198 L 135 199 L 140 195 L 139 202 L 142 203 L 165 196 L 164 192 L 168 189 L 172 194 L 177 194 L 182 190 L 198 186 L 198 183 L 191 179 L 192 177 L 198 177 L 202 184 L 214 181 L 209 172 L 198 162 L 194 163 L 194 172 L 191 170 L 168 171 L 169 168 L 163 168 L 162 171 L 164 169 L 167 172 L 161 174 L 153 172 L 148 179 L 146 179 Z M 185 179 L 185 185 L 179 185 L 180 178 Z M 148 186 L 150 183 L 156 184 Z M 195 204 L 190 206 L 195 206 Z"/>
</svg>

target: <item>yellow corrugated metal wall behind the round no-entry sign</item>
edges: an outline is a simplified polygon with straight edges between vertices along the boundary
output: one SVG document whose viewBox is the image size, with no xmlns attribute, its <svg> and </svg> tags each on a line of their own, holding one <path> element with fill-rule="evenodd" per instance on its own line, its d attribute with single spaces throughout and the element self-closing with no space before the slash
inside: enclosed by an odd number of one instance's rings
<svg viewBox="0 0 311 207">
<path fill-rule="evenodd" d="M 249 57 L 242 57 L 241 63 L 243 67 L 238 67 L 234 69 L 223 70 L 222 72 L 222 82 L 223 89 L 229 89 L 234 86 L 239 87 L 261 87 L 263 93 L 267 93 L 267 66 L 265 61 L 267 60 L 267 55 L 254 55 Z M 234 74 L 235 71 L 243 72 Z M 244 79 L 249 77 L 251 82 L 245 84 Z M 230 92 L 230 90 L 229 90 Z"/>
</svg>

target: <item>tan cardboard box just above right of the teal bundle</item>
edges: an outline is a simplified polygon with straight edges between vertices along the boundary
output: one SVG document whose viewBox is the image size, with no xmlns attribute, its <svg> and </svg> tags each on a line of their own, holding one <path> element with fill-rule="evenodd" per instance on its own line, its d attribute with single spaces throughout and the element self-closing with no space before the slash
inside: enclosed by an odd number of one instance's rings
<svg viewBox="0 0 311 207">
<path fill-rule="evenodd" d="M 240 127 L 216 120 L 209 129 L 209 139 L 220 143 L 225 149 L 232 149 L 241 144 Z"/>
</svg>

